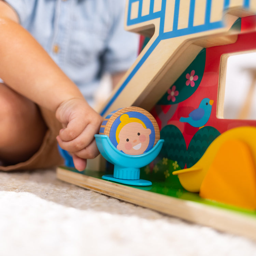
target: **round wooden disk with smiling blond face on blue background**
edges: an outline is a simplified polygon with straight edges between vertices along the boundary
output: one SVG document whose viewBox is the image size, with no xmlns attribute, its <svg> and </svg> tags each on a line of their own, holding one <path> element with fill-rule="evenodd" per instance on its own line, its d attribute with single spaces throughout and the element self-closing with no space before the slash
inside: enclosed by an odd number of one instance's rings
<svg viewBox="0 0 256 256">
<path fill-rule="evenodd" d="M 160 139 L 155 118 L 134 106 L 111 112 L 102 122 L 99 134 L 109 136 L 112 144 L 128 155 L 141 155 Z"/>
</svg>

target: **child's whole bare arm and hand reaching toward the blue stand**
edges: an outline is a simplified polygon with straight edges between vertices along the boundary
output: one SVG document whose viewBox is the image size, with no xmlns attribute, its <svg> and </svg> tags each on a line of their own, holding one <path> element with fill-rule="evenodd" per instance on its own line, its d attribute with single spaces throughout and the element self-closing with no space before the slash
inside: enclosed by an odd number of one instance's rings
<svg viewBox="0 0 256 256">
<path fill-rule="evenodd" d="M 97 156 L 94 134 L 102 118 L 39 43 L 18 24 L 18 16 L 0 0 L 0 77 L 9 87 L 52 110 L 62 123 L 57 140 L 74 155 L 77 169 Z"/>
</svg>

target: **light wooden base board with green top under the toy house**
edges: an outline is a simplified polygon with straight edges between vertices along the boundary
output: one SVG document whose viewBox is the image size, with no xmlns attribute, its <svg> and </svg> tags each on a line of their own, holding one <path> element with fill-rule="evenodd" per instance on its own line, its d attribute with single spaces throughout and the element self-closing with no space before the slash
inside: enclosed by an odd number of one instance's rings
<svg viewBox="0 0 256 256">
<path fill-rule="evenodd" d="M 168 188 L 165 181 L 152 181 L 152 186 L 127 186 L 103 180 L 105 173 L 78 172 L 57 168 L 58 179 L 142 207 L 176 216 L 217 230 L 245 236 L 256 241 L 256 212 L 202 199 L 185 189 Z"/>
</svg>

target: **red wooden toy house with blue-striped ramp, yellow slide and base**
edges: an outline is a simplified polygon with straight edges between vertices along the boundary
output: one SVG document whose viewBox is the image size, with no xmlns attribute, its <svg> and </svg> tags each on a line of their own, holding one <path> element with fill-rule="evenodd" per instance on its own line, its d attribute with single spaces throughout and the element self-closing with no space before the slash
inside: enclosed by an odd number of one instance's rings
<svg viewBox="0 0 256 256">
<path fill-rule="evenodd" d="M 106 181 L 108 167 L 60 167 L 59 179 L 256 240 L 253 78 L 243 114 L 226 118 L 224 108 L 229 58 L 256 52 L 255 14 L 254 0 L 128 0 L 125 28 L 150 40 L 100 113 L 138 106 L 156 119 L 165 142 L 140 168 L 152 185 Z M 242 95 L 245 84 L 235 84 Z"/>
</svg>

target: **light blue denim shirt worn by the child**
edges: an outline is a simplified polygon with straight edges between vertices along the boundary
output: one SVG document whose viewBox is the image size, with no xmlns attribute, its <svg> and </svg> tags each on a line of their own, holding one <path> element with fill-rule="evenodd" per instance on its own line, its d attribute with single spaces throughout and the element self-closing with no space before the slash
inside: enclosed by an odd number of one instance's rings
<svg viewBox="0 0 256 256">
<path fill-rule="evenodd" d="M 125 0 L 5 1 L 90 104 L 102 72 L 127 70 L 137 57 L 139 36 L 124 30 Z"/>
</svg>

